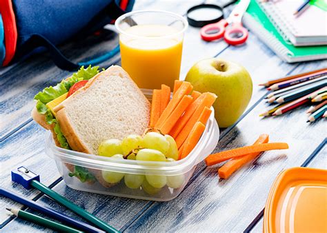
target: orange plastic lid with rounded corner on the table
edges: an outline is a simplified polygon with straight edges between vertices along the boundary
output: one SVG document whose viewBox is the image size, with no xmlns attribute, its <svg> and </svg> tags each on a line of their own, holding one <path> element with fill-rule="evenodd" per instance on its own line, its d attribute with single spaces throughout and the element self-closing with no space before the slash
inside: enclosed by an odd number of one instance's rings
<svg viewBox="0 0 327 233">
<path fill-rule="evenodd" d="M 327 232 L 327 170 L 281 172 L 266 202 L 264 232 Z"/>
</svg>

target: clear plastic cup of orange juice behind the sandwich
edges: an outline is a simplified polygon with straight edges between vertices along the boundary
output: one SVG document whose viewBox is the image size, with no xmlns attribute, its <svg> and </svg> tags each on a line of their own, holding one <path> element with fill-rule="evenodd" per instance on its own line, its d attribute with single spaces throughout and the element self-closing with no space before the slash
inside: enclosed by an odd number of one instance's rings
<svg viewBox="0 0 327 233">
<path fill-rule="evenodd" d="M 186 19 L 173 12 L 135 11 L 123 14 L 115 26 L 121 66 L 139 88 L 173 88 L 179 79 Z"/>
</svg>

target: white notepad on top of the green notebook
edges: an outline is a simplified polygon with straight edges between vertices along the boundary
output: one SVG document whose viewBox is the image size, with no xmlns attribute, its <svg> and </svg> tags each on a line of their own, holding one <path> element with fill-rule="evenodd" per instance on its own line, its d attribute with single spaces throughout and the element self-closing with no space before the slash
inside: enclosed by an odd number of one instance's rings
<svg viewBox="0 0 327 233">
<path fill-rule="evenodd" d="M 258 2 L 286 41 L 295 46 L 327 44 L 327 1 L 314 0 L 298 16 L 293 13 L 303 0 Z"/>
</svg>

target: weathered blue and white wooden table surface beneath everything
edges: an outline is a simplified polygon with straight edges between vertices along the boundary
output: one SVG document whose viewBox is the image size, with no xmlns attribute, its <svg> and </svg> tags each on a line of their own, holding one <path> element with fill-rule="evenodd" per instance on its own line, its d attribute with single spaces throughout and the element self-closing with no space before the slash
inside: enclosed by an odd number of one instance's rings
<svg viewBox="0 0 327 233">
<path fill-rule="evenodd" d="M 135 10 L 169 10 L 186 13 L 190 6 L 203 1 L 145 1 L 137 0 Z M 227 11 L 230 10 L 230 6 Z M 115 32 L 101 37 L 82 38 L 61 50 L 81 61 L 118 43 Z M 241 63 L 253 81 L 252 99 L 246 112 L 230 128 L 221 129 L 215 152 L 252 144 L 262 133 L 271 141 L 283 141 L 289 150 L 266 152 L 257 161 L 237 171 L 227 180 L 217 178 L 217 167 L 206 168 L 202 162 L 188 181 L 184 191 L 168 202 L 142 201 L 101 194 L 91 194 L 68 188 L 61 179 L 54 161 L 46 156 L 46 130 L 30 117 L 34 94 L 54 85 L 70 72 L 57 68 L 48 54 L 39 54 L 0 70 L 0 185 L 38 203 L 72 214 L 47 196 L 35 190 L 24 190 L 12 183 L 10 170 L 26 165 L 41 176 L 41 182 L 77 203 L 121 232 L 261 232 L 266 198 L 275 177 L 281 170 L 297 166 L 327 168 L 326 120 L 306 123 L 305 110 L 298 108 L 282 117 L 259 118 L 266 110 L 266 90 L 258 86 L 270 79 L 306 72 L 327 66 L 326 61 L 285 63 L 281 61 L 252 32 L 245 45 L 232 47 L 224 41 L 205 42 L 199 29 L 189 27 L 185 34 L 181 79 L 199 59 L 219 57 Z M 119 54 L 101 64 L 119 64 Z M 22 207 L 0 196 L 0 229 L 3 232 L 50 231 L 13 218 L 5 207 Z M 75 215 L 74 215 L 75 216 Z M 77 217 L 77 219 L 79 219 Z"/>
</svg>

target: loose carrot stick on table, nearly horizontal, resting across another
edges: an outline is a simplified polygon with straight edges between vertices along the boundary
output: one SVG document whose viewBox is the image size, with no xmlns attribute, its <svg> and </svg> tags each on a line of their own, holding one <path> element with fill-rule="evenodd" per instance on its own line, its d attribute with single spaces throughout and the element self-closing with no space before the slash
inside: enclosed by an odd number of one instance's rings
<svg viewBox="0 0 327 233">
<path fill-rule="evenodd" d="M 228 159 L 234 159 L 239 156 L 244 156 L 246 154 L 264 152 L 267 150 L 283 150 L 283 149 L 288 149 L 287 143 L 264 143 L 260 145 L 248 145 L 248 146 L 244 146 L 243 148 L 236 148 L 232 150 L 219 152 L 216 154 L 210 154 L 206 158 L 206 164 L 210 166 L 216 163 L 220 163 L 222 161 L 226 161 Z"/>
</svg>

